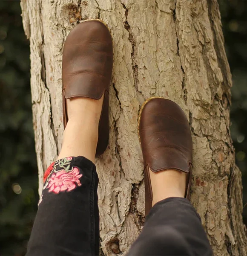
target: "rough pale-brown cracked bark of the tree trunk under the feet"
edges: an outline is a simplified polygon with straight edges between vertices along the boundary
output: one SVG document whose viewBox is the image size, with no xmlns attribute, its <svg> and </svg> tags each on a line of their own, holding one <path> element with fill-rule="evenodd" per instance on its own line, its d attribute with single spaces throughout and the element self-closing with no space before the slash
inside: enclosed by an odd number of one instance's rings
<svg viewBox="0 0 247 256">
<path fill-rule="evenodd" d="M 39 169 L 60 151 L 63 43 L 81 20 L 100 18 L 114 39 L 110 141 L 97 161 L 101 246 L 125 253 L 144 223 L 140 105 L 177 102 L 193 137 L 191 201 L 216 256 L 246 256 L 241 173 L 230 138 L 230 68 L 217 0 L 21 0 L 30 39 L 33 123 Z"/>
</svg>

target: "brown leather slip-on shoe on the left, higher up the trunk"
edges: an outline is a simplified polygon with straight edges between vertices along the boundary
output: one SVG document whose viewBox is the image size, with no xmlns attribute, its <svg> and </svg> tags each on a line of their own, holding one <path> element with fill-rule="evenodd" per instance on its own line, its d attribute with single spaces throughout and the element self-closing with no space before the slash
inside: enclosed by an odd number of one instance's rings
<svg viewBox="0 0 247 256">
<path fill-rule="evenodd" d="M 69 33 L 63 48 L 63 125 L 68 122 L 66 99 L 101 99 L 104 94 L 96 156 L 109 139 L 109 85 L 112 78 L 113 47 L 108 26 L 101 20 L 86 20 Z"/>
</svg>

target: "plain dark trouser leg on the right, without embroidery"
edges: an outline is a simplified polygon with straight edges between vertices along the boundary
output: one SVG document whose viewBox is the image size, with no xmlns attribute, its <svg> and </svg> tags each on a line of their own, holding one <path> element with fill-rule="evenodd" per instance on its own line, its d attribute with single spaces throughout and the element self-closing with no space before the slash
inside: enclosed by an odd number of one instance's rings
<svg viewBox="0 0 247 256">
<path fill-rule="evenodd" d="M 186 198 L 170 197 L 156 203 L 129 256 L 212 256 L 201 218 Z"/>
</svg>

